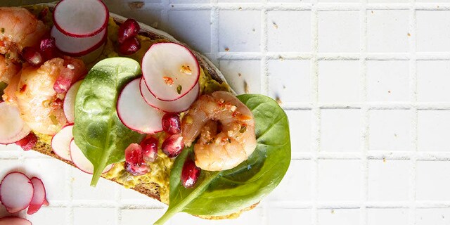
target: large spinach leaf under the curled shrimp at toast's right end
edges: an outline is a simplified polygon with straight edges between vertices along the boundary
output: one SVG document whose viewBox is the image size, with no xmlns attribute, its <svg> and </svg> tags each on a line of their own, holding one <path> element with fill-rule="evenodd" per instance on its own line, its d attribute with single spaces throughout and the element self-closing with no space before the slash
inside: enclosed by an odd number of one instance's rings
<svg viewBox="0 0 450 225">
<path fill-rule="evenodd" d="M 197 184 L 186 189 L 181 185 L 181 170 L 193 148 L 185 148 L 170 173 L 169 208 L 155 224 L 164 224 L 177 212 L 208 216 L 238 212 L 258 203 L 283 179 L 290 164 L 288 117 L 269 97 L 244 94 L 238 98 L 255 116 L 255 152 L 233 169 L 202 171 Z"/>
</svg>

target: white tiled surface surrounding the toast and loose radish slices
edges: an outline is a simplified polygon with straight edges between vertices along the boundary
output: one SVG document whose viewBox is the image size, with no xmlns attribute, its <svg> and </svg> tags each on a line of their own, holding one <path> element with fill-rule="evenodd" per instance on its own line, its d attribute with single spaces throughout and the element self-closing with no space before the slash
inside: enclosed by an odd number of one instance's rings
<svg viewBox="0 0 450 225">
<path fill-rule="evenodd" d="M 279 98 L 290 119 L 290 169 L 255 210 L 171 224 L 450 224 L 449 1 L 105 2 L 204 53 L 238 93 L 247 83 Z M 20 169 L 46 184 L 51 205 L 28 217 L 35 225 L 150 224 L 165 212 L 109 181 L 91 188 L 57 160 L 0 148 L 0 176 Z"/>
</svg>

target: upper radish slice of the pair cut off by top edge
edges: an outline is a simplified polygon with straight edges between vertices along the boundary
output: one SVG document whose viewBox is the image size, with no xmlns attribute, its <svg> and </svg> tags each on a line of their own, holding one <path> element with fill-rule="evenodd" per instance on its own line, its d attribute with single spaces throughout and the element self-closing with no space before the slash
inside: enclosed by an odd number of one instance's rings
<svg viewBox="0 0 450 225">
<path fill-rule="evenodd" d="M 55 26 L 70 37 L 93 37 L 105 30 L 109 11 L 100 0 L 63 0 L 55 6 Z"/>
</svg>

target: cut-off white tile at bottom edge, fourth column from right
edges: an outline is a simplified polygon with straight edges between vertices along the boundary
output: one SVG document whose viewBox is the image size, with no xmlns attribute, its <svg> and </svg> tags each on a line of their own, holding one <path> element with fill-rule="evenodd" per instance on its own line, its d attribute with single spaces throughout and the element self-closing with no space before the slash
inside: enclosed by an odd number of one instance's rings
<svg viewBox="0 0 450 225">
<path fill-rule="evenodd" d="M 270 208 L 267 214 L 268 224 L 297 225 L 311 224 L 311 210 L 309 209 L 281 209 Z"/>
</svg>

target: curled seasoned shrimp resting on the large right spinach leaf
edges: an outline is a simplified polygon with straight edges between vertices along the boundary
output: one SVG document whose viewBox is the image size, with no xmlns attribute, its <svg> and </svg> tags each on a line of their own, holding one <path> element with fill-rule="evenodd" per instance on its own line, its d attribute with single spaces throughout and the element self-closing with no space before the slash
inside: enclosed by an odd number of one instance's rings
<svg viewBox="0 0 450 225">
<path fill-rule="evenodd" d="M 219 171 L 247 160 L 256 148 L 255 119 L 233 94 L 215 91 L 191 105 L 181 123 L 186 146 L 194 144 L 195 165 Z"/>
</svg>

